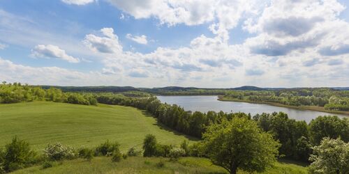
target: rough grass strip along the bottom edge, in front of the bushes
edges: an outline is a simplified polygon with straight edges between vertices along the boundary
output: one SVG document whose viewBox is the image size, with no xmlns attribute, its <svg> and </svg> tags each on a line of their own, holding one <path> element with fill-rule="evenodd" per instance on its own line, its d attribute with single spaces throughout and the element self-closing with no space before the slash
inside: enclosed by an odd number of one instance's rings
<svg viewBox="0 0 349 174">
<path fill-rule="evenodd" d="M 157 164 L 164 162 L 164 166 Z M 128 157 L 119 163 L 114 163 L 110 157 L 96 157 L 92 161 L 76 159 L 56 163 L 52 168 L 43 169 L 42 166 L 24 168 L 15 173 L 227 173 L 223 168 L 214 166 L 209 159 L 184 157 L 177 162 L 165 158 Z M 238 172 L 243 173 L 244 172 Z M 294 164 L 276 163 L 265 173 L 307 173 L 306 168 Z M 247 174 L 247 173 L 246 173 Z"/>
</svg>

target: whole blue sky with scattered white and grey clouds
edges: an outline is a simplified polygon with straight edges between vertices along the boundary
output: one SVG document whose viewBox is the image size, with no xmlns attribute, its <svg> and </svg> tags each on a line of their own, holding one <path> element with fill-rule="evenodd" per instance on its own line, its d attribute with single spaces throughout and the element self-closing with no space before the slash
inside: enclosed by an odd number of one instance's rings
<svg viewBox="0 0 349 174">
<path fill-rule="evenodd" d="M 348 0 L 0 0 L 0 81 L 349 86 Z"/>
</svg>

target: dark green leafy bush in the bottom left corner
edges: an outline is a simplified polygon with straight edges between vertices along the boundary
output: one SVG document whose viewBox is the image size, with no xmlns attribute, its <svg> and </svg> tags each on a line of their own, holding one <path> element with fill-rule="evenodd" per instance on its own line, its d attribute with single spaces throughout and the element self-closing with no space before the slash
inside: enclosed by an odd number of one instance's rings
<svg viewBox="0 0 349 174">
<path fill-rule="evenodd" d="M 2 151 L 2 150 L 1 150 Z M 5 151 L 0 152 L 0 171 L 10 172 L 34 164 L 36 153 L 30 149 L 29 143 L 17 139 L 5 146 Z M 2 168 L 2 169 L 1 169 Z"/>
</svg>

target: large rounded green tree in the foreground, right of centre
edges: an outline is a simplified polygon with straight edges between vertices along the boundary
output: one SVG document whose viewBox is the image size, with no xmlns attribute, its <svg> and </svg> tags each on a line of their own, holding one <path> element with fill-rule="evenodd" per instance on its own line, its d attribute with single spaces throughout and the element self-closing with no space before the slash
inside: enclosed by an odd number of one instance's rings
<svg viewBox="0 0 349 174">
<path fill-rule="evenodd" d="M 279 148 L 271 134 L 263 132 L 248 118 L 232 118 L 210 125 L 202 143 L 212 163 L 232 174 L 238 169 L 251 173 L 265 171 L 276 161 Z"/>
</svg>

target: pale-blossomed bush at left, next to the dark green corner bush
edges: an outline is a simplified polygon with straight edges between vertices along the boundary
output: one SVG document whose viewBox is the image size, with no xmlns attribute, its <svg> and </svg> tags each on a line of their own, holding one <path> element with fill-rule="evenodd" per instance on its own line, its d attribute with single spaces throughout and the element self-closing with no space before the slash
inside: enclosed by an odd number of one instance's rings
<svg viewBox="0 0 349 174">
<path fill-rule="evenodd" d="M 68 145 L 64 146 L 61 143 L 55 143 L 54 145 L 48 144 L 44 150 L 44 155 L 52 161 L 75 158 L 74 149 Z"/>
</svg>

